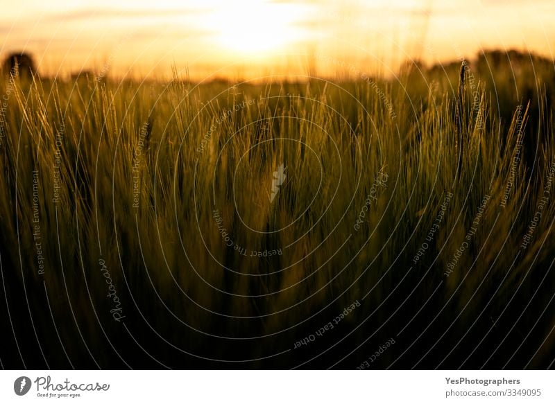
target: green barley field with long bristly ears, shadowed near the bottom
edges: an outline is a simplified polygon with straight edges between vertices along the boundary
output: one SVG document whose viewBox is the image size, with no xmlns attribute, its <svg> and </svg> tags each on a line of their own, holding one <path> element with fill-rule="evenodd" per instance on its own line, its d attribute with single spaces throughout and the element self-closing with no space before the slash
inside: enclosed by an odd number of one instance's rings
<svg viewBox="0 0 555 404">
<path fill-rule="evenodd" d="M 7 368 L 545 369 L 555 69 L 0 80 Z"/>
</svg>

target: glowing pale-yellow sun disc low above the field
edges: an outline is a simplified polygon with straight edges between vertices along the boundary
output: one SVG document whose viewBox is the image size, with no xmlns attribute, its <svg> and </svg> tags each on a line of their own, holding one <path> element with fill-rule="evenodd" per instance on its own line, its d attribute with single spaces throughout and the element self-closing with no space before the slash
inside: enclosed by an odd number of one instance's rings
<svg viewBox="0 0 555 404">
<path fill-rule="evenodd" d="M 280 51 L 298 39 L 293 25 L 299 10 L 269 1 L 222 1 L 207 15 L 214 41 L 232 53 Z"/>
</svg>

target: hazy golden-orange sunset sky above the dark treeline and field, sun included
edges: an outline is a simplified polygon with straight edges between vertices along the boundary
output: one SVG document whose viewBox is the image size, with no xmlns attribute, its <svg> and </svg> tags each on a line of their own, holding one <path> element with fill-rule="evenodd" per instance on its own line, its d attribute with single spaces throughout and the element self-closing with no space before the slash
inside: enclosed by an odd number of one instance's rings
<svg viewBox="0 0 555 404">
<path fill-rule="evenodd" d="M 0 0 L 0 58 L 40 73 L 196 79 L 393 73 L 481 49 L 553 58 L 553 0 Z"/>
</svg>

